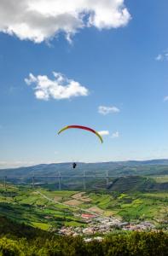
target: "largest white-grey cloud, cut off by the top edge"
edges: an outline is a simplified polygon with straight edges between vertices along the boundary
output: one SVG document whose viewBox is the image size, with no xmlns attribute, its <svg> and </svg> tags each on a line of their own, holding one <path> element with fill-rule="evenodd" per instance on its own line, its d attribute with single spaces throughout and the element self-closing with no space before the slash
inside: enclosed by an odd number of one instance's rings
<svg viewBox="0 0 168 256">
<path fill-rule="evenodd" d="M 1 0 L 0 32 L 35 43 L 65 32 L 67 40 L 79 29 L 126 26 L 125 0 Z"/>
</svg>

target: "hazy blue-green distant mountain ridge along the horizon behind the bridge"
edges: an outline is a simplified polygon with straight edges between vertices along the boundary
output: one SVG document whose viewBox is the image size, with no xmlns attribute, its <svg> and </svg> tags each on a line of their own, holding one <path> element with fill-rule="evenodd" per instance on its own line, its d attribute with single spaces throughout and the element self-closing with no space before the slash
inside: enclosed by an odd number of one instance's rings
<svg viewBox="0 0 168 256">
<path fill-rule="evenodd" d="M 111 176 L 130 175 L 165 175 L 168 174 L 168 160 L 128 160 L 100 163 L 77 163 L 77 168 L 72 169 L 72 163 L 42 164 L 20 168 L 1 169 L 0 176 L 33 176 L 33 175 L 86 175 L 108 174 Z"/>
</svg>

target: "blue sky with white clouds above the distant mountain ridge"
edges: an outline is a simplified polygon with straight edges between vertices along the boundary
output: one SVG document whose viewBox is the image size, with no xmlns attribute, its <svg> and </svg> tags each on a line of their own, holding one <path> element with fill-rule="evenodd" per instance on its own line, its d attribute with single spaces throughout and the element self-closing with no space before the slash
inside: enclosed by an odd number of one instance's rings
<svg viewBox="0 0 168 256">
<path fill-rule="evenodd" d="M 167 1 L 49 1 L 0 3 L 0 167 L 167 158 Z"/>
</svg>

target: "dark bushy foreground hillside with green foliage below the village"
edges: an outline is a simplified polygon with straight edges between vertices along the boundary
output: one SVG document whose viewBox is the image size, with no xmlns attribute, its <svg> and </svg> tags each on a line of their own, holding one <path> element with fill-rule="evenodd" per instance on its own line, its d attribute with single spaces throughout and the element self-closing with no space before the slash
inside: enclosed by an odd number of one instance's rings
<svg viewBox="0 0 168 256">
<path fill-rule="evenodd" d="M 51 236 L 41 230 L 30 230 L 26 225 L 20 236 L 20 224 L 17 226 L 7 218 L 0 218 L 0 223 L 2 256 L 167 256 L 168 252 L 168 234 L 161 231 L 113 233 L 102 241 L 86 242 L 81 236 Z"/>
</svg>

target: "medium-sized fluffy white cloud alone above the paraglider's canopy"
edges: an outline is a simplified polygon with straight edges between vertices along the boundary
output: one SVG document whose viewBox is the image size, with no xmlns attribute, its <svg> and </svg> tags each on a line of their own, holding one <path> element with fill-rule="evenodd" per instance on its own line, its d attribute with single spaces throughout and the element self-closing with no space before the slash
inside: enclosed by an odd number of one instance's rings
<svg viewBox="0 0 168 256">
<path fill-rule="evenodd" d="M 49 100 L 50 98 L 61 100 L 74 96 L 88 96 L 89 90 L 78 82 L 67 79 L 61 73 L 53 72 L 53 75 L 55 79 L 51 80 L 45 75 L 35 77 L 30 73 L 25 82 L 28 85 L 35 84 L 35 96 L 39 100 Z"/>
</svg>

